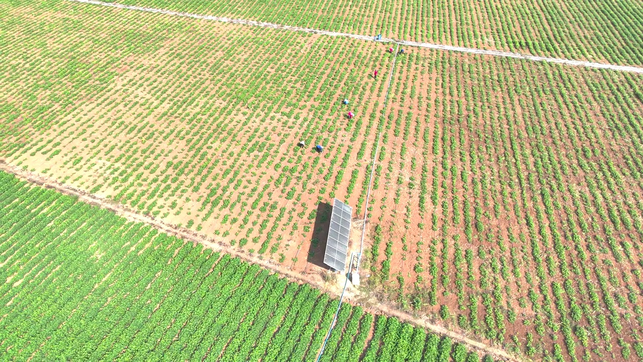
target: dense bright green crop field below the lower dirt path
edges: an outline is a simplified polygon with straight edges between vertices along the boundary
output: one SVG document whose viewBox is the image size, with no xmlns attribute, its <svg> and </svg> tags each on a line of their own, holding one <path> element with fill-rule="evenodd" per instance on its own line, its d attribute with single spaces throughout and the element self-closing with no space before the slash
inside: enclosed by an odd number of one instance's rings
<svg viewBox="0 0 643 362">
<path fill-rule="evenodd" d="M 315 361 L 338 300 L 0 171 L 5 361 Z M 321 361 L 481 361 L 344 303 Z M 493 361 L 484 357 L 482 361 Z"/>
</svg>

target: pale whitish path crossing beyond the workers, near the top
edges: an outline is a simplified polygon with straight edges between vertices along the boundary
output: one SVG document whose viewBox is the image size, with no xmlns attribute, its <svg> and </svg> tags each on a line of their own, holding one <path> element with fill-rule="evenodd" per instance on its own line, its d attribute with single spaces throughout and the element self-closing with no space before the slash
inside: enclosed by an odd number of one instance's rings
<svg viewBox="0 0 643 362">
<path fill-rule="evenodd" d="M 253 26 L 262 26 L 264 28 L 291 30 L 291 31 L 294 31 L 294 32 L 306 32 L 306 33 L 315 33 L 315 34 L 331 35 L 331 36 L 338 36 L 338 37 L 350 37 L 350 38 L 360 39 L 360 40 L 364 40 L 364 41 L 374 41 L 374 39 L 375 39 L 374 36 L 369 36 L 369 35 L 359 35 L 359 34 L 340 33 L 340 32 L 329 32 L 328 30 L 316 30 L 316 29 L 311 29 L 311 28 L 300 28 L 299 26 L 264 23 L 262 21 L 253 21 L 253 20 L 244 20 L 244 19 L 230 19 L 229 17 L 219 17 L 219 16 L 212 16 L 212 15 L 199 15 L 199 14 L 190 14 L 190 13 L 184 13 L 184 12 L 174 12 L 172 10 L 163 10 L 163 9 L 156 9 L 156 8 L 145 8 L 145 7 L 142 7 L 142 6 L 123 5 L 123 4 L 118 4 L 118 3 L 105 3 L 103 1 L 96 1 L 96 0 L 68 0 L 68 1 L 74 1 L 76 3 L 87 3 L 87 4 L 94 4 L 94 5 L 111 6 L 113 8 L 139 10 L 139 11 L 143 11 L 143 12 L 151 12 L 151 13 L 159 13 L 159 14 L 167 14 L 167 15 L 176 15 L 176 16 L 183 16 L 183 17 L 192 17 L 194 19 L 205 19 L 205 20 L 221 21 L 223 23 L 245 24 L 245 25 L 253 25 Z M 462 52 L 462 53 L 474 53 L 474 54 L 481 54 L 481 55 L 492 55 L 494 57 L 507 57 L 507 58 L 515 58 L 515 59 L 524 59 L 524 60 L 527 60 L 527 61 L 552 62 L 552 63 L 571 65 L 571 66 L 584 66 L 584 67 L 587 67 L 587 68 L 609 69 L 609 70 L 616 70 L 616 71 L 630 71 L 630 72 L 634 72 L 634 73 L 642 73 L 643 74 L 643 68 L 638 68 L 636 66 L 623 66 L 623 65 L 603 64 L 603 63 L 588 62 L 588 61 L 574 61 L 572 59 L 538 57 L 537 55 L 526 55 L 526 54 L 520 54 L 520 53 L 502 52 L 500 50 L 483 50 L 483 49 L 475 49 L 475 48 L 465 48 L 465 47 L 462 47 L 462 46 L 451 46 L 451 45 L 442 45 L 442 44 L 433 44 L 433 43 L 418 43 L 418 42 L 415 42 L 415 41 L 403 41 L 403 40 L 395 40 L 395 39 L 388 39 L 388 38 L 382 38 L 380 41 L 382 43 L 396 43 L 396 44 L 407 45 L 407 46 L 419 46 L 421 48 L 448 50 L 448 51 L 451 51 L 451 52 Z"/>
</svg>

